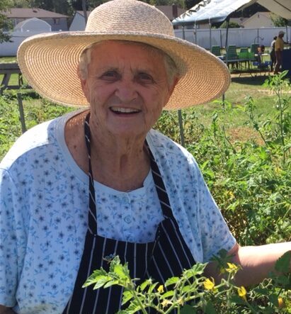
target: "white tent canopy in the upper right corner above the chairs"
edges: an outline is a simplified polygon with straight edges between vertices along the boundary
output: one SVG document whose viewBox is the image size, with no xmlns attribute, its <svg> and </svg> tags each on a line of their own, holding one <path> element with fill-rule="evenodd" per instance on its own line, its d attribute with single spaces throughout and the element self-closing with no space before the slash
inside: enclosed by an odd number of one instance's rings
<svg viewBox="0 0 291 314">
<path fill-rule="evenodd" d="M 258 2 L 269 11 L 291 20 L 291 0 L 202 0 L 196 6 L 175 18 L 173 25 L 190 25 L 224 21 L 229 14 Z"/>
</svg>

